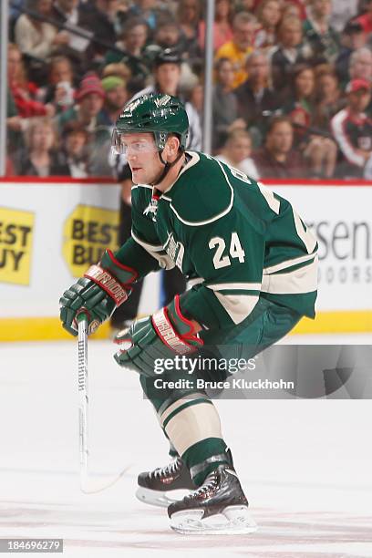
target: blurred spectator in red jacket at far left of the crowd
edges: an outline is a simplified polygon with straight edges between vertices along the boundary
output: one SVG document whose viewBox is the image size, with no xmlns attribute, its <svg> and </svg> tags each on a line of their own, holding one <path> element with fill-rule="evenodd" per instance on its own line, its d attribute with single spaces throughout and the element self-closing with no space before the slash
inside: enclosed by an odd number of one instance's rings
<svg viewBox="0 0 372 558">
<path fill-rule="evenodd" d="M 43 105 L 36 100 L 37 88 L 26 78 L 26 70 L 19 47 L 10 43 L 7 54 L 8 85 L 15 101 L 15 108 L 22 119 L 34 116 L 53 116 L 52 105 Z"/>
</svg>

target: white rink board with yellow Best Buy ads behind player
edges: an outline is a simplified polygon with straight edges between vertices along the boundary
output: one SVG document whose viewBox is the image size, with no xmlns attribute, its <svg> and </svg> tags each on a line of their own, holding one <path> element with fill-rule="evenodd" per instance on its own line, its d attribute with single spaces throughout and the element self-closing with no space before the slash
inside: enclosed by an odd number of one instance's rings
<svg viewBox="0 0 372 558">
<path fill-rule="evenodd" d="M 268 184 L 293 203 L 319 244 L 315 321 L 297 333 L 372 331 L 372 185 Z M 58 300 L 90 263 L 118 247 L 118 185 L 5 182 L 0 205 L 0 339 L 65 337 Z M 159 306 L 159 274 L 140 313 Z M 98 336 L 109 335 L 109 327 Z"/>
</svg>

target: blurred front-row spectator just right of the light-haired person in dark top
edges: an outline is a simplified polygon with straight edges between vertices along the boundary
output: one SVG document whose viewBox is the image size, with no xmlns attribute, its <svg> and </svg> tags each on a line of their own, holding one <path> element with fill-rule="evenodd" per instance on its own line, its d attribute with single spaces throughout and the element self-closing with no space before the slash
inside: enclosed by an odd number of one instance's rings
<svg viewBox="0 0 372 558">
<path fill-rule="evenodd" d="M 87 178 L 89 176 L 89 133 L 77 123 L 72 122 L 63 134 L 63 149 L 70 176 Z"/>
</svg>

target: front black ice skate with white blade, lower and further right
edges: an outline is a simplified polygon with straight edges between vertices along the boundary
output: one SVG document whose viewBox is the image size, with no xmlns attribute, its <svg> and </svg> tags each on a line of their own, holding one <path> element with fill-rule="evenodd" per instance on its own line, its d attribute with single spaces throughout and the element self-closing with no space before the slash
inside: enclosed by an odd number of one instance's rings
<svg viewBox="0 0 372 558">
<path fill-rule="evenodd" d="M 234 470 L 222 464 L 202 486 L 168 508 L 171 528 L 187 534 L 243 534 L 257 525 Z"/>
</svg>

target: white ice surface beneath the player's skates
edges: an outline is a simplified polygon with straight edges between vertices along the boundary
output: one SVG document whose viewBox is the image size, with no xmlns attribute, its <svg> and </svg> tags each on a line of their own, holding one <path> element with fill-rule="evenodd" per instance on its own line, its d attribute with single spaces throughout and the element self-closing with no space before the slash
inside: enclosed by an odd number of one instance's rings
<svg viewBox="0 0 372 558">
<path fill-rule="evenodd" d="M 260 530 L 187 537 L 135 499 L 137 474 L 167 461 L 167 443 L 109 342 L 89 343 L 92 472 L 105 482 L 128 470 L 108 491 L 79 491 L 76 349 L 0 347 L 0 538 L 64 538 L 73 558 L 372 556 L 370 401 L 218 402 Z"/>
</svg>

